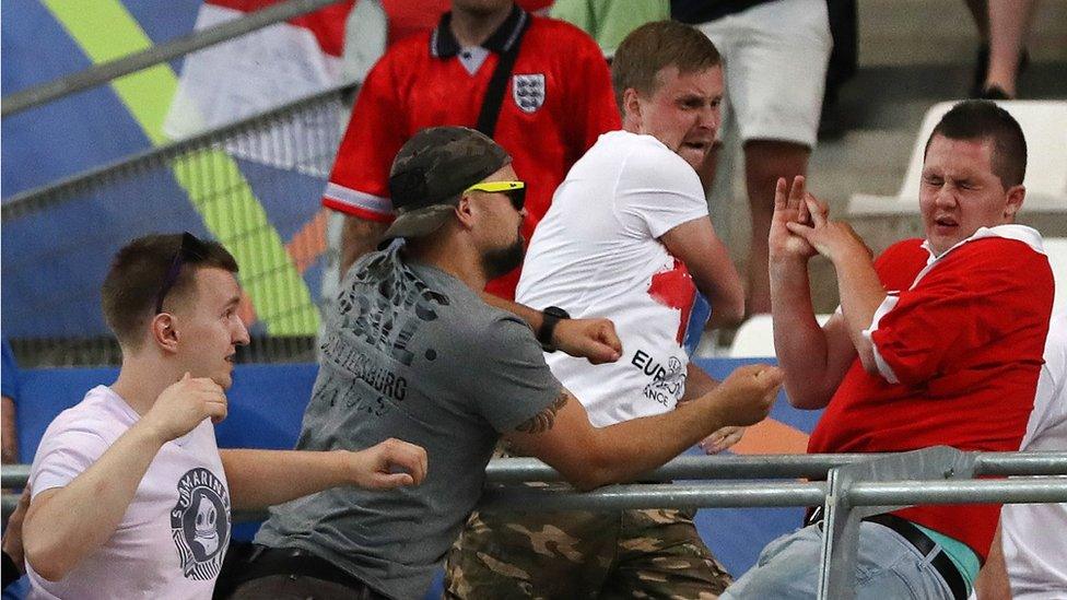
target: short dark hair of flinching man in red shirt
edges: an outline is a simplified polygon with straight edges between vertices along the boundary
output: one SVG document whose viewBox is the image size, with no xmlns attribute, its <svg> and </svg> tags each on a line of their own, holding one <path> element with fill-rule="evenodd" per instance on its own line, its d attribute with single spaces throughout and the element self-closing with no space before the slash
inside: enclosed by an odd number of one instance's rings
<svg viewBox="0 0 1067 600">
<path fill-rule="evenodd" d="M 1015 117 L 994 102 L 969 99 L 953 106 L 926 140 L 924 158 L 935 136 L 950 140 L 992 141 L 993 173 L 1000 178 L 1004 189 L 1022 184 L 1027 175 L 1027 138 L 1022 134 L 1022 128 Z"/>
</svg>

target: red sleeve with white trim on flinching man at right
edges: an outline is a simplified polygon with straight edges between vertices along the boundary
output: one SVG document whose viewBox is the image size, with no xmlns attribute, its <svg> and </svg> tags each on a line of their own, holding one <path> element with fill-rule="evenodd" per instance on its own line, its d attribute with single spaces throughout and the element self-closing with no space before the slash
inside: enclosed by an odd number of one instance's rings
<svg viewBox="0 0 1067 600">
<path fill-rule="evenodd" d="M 869 334 L 887 380 L 922 384 L 958 353 L 999 338 L 1015 319 L 1033 320 L 1027 314 L 1034 310 L 1028 299 L 1033 282 L 1013 260 L 1017 252 L 1004 243 L 971 243 L 953 254 L 876 315 Z"/>
</svg>

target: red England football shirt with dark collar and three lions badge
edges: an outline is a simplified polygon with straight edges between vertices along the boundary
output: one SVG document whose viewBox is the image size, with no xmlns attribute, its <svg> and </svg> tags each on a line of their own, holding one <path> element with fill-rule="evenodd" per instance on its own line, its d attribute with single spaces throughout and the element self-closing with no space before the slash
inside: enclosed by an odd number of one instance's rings
<svg viewBox="0 0 1067 600">
<path fill-rule="evenodd" d="M 473 128 L 500 52 L 529 21 L 494 136 L 527 181 L 529 215 L 523 234 L 529 240 L 571 165 L 600 133 L 621 127 L 607 63 L 593 38 L 577 27 L 516 8 L 485 42 L 489 56 L 470 73 L 447 26 L 449 16 L 432 32 L 394 45 L 371 70 L 323 204 L 390 221 L 389 167 L 400 146 L 426 127 Z M 511 298 L 517 281 L 518 270 L 490 282 L 489 291 Z"/>
</svg>

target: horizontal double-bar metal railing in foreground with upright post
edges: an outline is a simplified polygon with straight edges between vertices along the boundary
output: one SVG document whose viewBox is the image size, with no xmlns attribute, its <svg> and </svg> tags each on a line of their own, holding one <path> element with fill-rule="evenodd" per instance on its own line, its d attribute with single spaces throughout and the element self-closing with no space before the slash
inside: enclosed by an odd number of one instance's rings
<svg viewBox="0 0 1067 600">
<path fill-rule="evenodd" d="M 2 486 L 25 484 L 26 466 L 3 468 Z M 974 480 L 980 475 L 1025 479 Z M 1060 475 L 1060 477 L 1042 477 Z M 856 542 L 863 517 L 914 504 L 1067 502 L 1067 452 L 961 452 L 938 446 L 892 455 L 766 455 L 679 457 L 642 480 L 824 479 L 812 482 L 643 483 L 609 485 L 587 493 L 526 481 L 562 481 L 547 464 L 499 459 L 486 468 L 480 510 L 621 510 L 819 506 L 825 534 L 819 598 L 853 598 Z M 4 496 L 4 515 L 16 496 Z"/>
</svg>

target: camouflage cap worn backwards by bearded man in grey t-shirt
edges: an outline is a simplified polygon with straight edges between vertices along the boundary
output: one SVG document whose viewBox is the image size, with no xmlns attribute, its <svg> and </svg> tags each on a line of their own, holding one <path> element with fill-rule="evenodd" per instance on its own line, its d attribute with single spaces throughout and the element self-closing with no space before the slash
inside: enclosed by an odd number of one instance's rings
<svg viewBox="0 0 1067 600">
<path fill-rule="evenodd" d="M 503 148 L 473 129 L 431 127 L 415 133 L 397 153 L 389 170 L 389 195 L 397 219 L 385 232 L 386 239 L 437 231 L 465 189 L 511 162 Z"/>
</svg>

